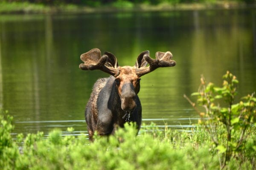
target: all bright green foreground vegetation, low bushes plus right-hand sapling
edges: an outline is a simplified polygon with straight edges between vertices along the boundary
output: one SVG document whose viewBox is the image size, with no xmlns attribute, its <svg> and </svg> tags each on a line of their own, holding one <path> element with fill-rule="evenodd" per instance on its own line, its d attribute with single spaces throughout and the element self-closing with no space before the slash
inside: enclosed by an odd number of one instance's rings
<svg viewBox="0 0 256 170">
<path fill-rule="evenodd" d="M 18 134 L 12 139 L 12 117 L 0 114 L 0 167 L 9 169 L 255 169 L 256 98 L 248 95 L 233 104 L 238 80 L 230 72 L 223 87 L 201 78 L 197 103 L 186 97 L 201 116 L 196 128 L 185 131 L 145 126 L 136 136 L 135 125 L 125 125 L 114 136 L 61 136 L 53 130 Z M 219 104 L 217 104 L 219 103 Z M 227 103 L 227 104 L 226 104 Z M 222 105 L 223 104 L 223 105 Z M 73 128 L 68 129 L 70 132 Z"/>
</svg>

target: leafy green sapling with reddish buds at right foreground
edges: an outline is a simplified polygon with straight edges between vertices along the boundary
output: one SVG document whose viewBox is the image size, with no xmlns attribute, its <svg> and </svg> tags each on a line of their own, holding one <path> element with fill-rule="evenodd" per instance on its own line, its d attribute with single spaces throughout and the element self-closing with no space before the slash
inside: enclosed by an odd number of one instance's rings
<svg viewBox="0 0 256 170">
<path fill-rule="evenodd" d="M 192 96 L 198 96 L 197 103 L 204 111 L 200 111 L 195 103 L 185 97 L 201 116 L 199 123 L 211 136 L 214 149 L 220 156 L 221 168 L 224 168 L 232 158 L 237 161 L 241 161 L 242 158 L 248 159 L 255 167 L 256 160 L 251 157 L 256 153 L 255 137 L 248 140 L 251 134 L 255 135 L 255 93 L 243 97 L 235 104 L 239 81 L 229 71 L 223 79 L 223 86 L 218 87 L 211 82 L 206 84 L 204 77 L 201 77 L 198 92 Z M 248 148 L 250 149 L 247 150 Z"/>
</svg>

